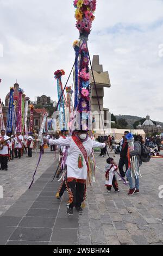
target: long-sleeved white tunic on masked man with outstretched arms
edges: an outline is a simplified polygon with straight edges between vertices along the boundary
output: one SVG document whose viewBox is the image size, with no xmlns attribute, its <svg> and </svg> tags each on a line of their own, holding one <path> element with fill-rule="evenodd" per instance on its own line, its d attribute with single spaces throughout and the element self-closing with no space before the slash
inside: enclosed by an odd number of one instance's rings
<svg viewBox="0 0 163 256">
<path fill-rule="evenodd" d="M 74 178 L 80 180 L 86 180 L 87 178 L 87 166 L 83 156 L 83 167 L 78 168 L 78 158 L 79 155 L 83 155 L 82 151 L 78 148 L 76 143 L 73 141 L 72 137 L 59 138 L 59 139 L 49 139 L 50 145 L 60 145 L 60 146 L 68 146 L 68 156 L 66 160 L 67 164 L 67 179 Z M 87 152 L 87 156 L 92 153 L 92 148 L 105 148 L 105 143 L 99 143 L 93 141 L 91 138 L 88 138 L 85 142 L 83 142 L 83 146 Z M 70 179 L 69 179 L 70 180 Z"/>
</svg>

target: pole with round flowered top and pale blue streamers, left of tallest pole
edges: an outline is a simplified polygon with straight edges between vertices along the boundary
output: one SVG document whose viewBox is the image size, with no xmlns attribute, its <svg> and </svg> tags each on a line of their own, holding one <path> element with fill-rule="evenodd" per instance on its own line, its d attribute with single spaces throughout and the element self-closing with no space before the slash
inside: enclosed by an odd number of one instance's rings
<svg viewBox="0 0 163 256">
<path fill-rule="evenodd" d="M 57 70 L 54 72 L 55 79 L 57 80 L 57 90 L 58 90 L 58 100 L 59 100 L 59 105 L 58 105 L 58 111 L 59 111 L 59 124 L 60 124 L 60 130 L 67 130 L 66 126 L 67 124 L 65 123 L 65 102 L 66 98 L 64 100 L 64 93 L 63 88 L 62 88 L 62 81 L 61 81 L 61 76 L 65 75 L 64 70 Z"/>
</svg>

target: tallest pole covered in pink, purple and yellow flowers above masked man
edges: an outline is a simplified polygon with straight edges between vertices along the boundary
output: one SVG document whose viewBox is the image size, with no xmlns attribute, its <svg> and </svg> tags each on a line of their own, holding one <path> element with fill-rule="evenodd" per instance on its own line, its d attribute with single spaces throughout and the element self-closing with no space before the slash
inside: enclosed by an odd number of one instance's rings
<svg viewBox="0 0 163 256">
<path fill-rule="evenodd" d="M 85 130 L 88 129 L 90 111 L 90 72 L 87 40 L 91 32 L 92 21 L 95 19 L 93 13 L 96 10 L 96 0 L 74 0 L 74 7 L 76 8 L 76 27 L 80 33 L 80 41 L 74 41 L 73 44 L 76 52 L 74 109 L 80 113 L 80 127 L 78 129 Z"/>
</svg>

